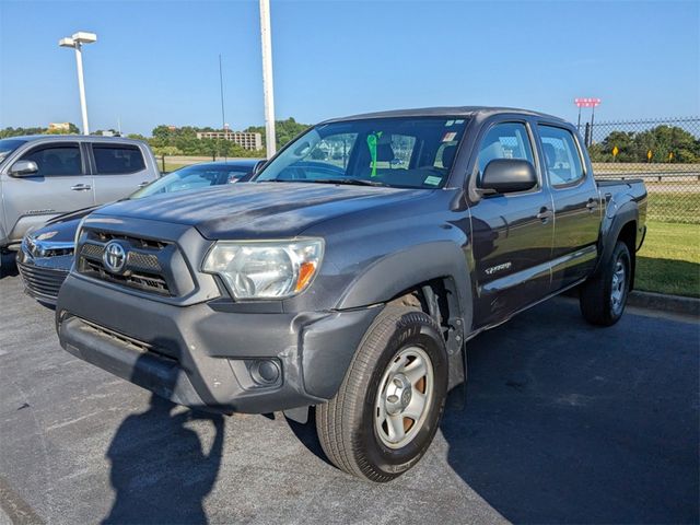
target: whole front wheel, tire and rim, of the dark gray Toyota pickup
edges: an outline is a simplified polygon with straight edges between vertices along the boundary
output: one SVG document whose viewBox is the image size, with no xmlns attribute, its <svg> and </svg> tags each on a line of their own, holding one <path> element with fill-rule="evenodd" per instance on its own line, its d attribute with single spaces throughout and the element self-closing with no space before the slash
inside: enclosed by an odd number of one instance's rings
<svg viewBox="0 0 700 525">
<path fill-rule="evenodd" d="M 447 392 L 447 353 L 425 313 L 387 306 L 366 331 L 336 396 L 316 409 L 328 458 L 346 472 L 389 481 L 435 435 Z"/>
</svg>

